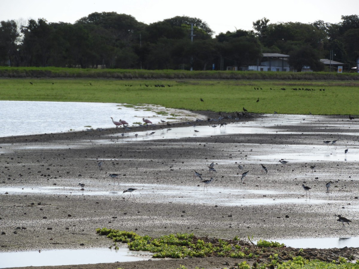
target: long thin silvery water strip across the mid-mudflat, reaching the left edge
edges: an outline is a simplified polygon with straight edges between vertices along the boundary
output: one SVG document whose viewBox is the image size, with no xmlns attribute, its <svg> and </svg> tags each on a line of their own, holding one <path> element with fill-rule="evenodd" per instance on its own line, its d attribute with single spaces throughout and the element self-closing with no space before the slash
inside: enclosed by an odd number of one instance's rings
<svg viewBox="0 0 359 269">
<path fill-rule="evenodd" d="M 106 183 L 107 184 L 107 183 Z M 123 190 L 128 188 L 128 184 L 113 183 L 111 190 L 99 190 L 94 187 L 87 187 L 85 184 L 84 191 L 79 187 L 5 187 L 0 188 L 0 194 L 56 194 L 56 195 L 85 195 L 85 196 L 108 196 L 109 199 L 129 199 L 130 193 L 123 193 Z M 271 205 L 271 204 L 322 204 L 341 202 L 332 199 L 321 199 L 302 197 L 302 193 L 297 192 L 277 192 L 265 189 L 232 189 L 221 188 L 209 185 L 207 189 L 200 185 L 197 186 L 174 186 L 174 185 L 160 185 L 160 184 L 131 184 L 131 188 L 137 188 L 132 195 L 138 201 L 146 199 L 154 199 L 161 197 L 161 201 L 176 202 L 176 203 L 193 203 L 193 204 L 212 204 L 223 206 L 243 206 L 243 205 Z M 253 195 L 255 198 L 253 198 Z M 268 195 L 266 198 L 258 198 L 258 196 Z M 295 197 L 295 198 L 273 198 L 278 196 Z M 298 196 L 300 198 L 298 198 Z M 131 199 L 134 199 L 131 197 Z"/>
</svg>

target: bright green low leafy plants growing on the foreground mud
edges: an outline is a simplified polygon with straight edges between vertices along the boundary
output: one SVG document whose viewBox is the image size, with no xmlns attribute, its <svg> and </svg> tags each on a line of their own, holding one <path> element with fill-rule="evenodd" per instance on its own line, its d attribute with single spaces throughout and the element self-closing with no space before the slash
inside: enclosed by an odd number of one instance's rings
<svg viewBox="0 0 359 269">
<path fill-rule="evenodd" d="M 153 258 L 190 258 L 190 257 L 230 257 L 237 259 L 255 260 L 253 265 L 247 261 L 239 263 L 233 269 L 247 268 L 340 268 L 359 269 L 359 261 L 349 263 L 344 257 L 327 263 L 320 260 L 304 259 L 298 254 L 304 254 L 303 249 L 295 250 L 284 247 L 273 241 L 259 240 L 257 244 L 236 240 L 197 238 L 193 233 L 176 233 L 152 238 L 148 235 L 140 236 L 132 231 L 120 231 L 108 228 L 97 228 L 96 232 L 114 241 L 111 248 L 118 247 L 117 242 L 127 243 L 130 250 L 150 251 Z M 238 239 L 238 237 L 237 237 Z M 252 237 L 253 239 L 253 237 Z M 258 244 L 259 243 L 259 244 Z M 260 259 L 261 264 L 257 261 Z"/>
</svg>

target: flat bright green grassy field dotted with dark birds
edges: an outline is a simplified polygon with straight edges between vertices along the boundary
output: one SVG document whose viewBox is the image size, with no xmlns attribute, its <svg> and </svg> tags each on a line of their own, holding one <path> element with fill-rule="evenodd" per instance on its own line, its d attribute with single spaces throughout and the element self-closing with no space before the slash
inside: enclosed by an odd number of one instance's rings
<svg viewBox="0 0 359 269">
<path fill-rule="evenodd" d="M 358 88 L 358 80 L 3 78 L 0 100 L 146 103 L 215 112 L 241 112 L 245 107 L 255 113 L 359 115 Z"/>
</svg>

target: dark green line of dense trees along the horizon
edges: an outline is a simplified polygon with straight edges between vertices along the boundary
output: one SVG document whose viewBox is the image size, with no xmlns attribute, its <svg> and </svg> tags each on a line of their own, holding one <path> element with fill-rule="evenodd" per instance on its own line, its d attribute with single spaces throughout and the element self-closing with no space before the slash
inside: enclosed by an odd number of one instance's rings
<svg viewBox="0 0 359 269">
<path fill-rule="evenodd" d="M 341 16 L 339 23 L 269 22 L 258 19 L 253 30 L 213 37 L 206 22 L 187 16 L 151 24 L 116 12 L 95 12 L 74 24 L 1 21 L 0 65 L 223 70 L 257 65 L 262 53 L 283 53 L 298 71 L 321 71 L 321 58 L 354 66 L 359 56 L 358 15 Z"/>
</svg>

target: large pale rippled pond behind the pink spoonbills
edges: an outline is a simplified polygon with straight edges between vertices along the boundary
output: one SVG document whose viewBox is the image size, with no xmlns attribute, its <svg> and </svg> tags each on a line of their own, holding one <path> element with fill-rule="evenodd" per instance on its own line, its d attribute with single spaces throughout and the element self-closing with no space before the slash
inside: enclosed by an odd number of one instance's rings
<svg viewBox="0 0 359 269">
<path fill-rule="evenodd" d="M 114 121 L 125 120 L 130 125 L 142 122 L 142 118 L 158 124 L 169 117 L 156 112 L 174 113 L 178 115 L 177 121 L 199 117 L 185 110 L 156 105 L 129 108 L 117 103 L 0 101 L 0 115 L 6 115 L 0 117 L 0 137 L 113 128 L 115 125 L 110 117 Z"/>
</svg>

